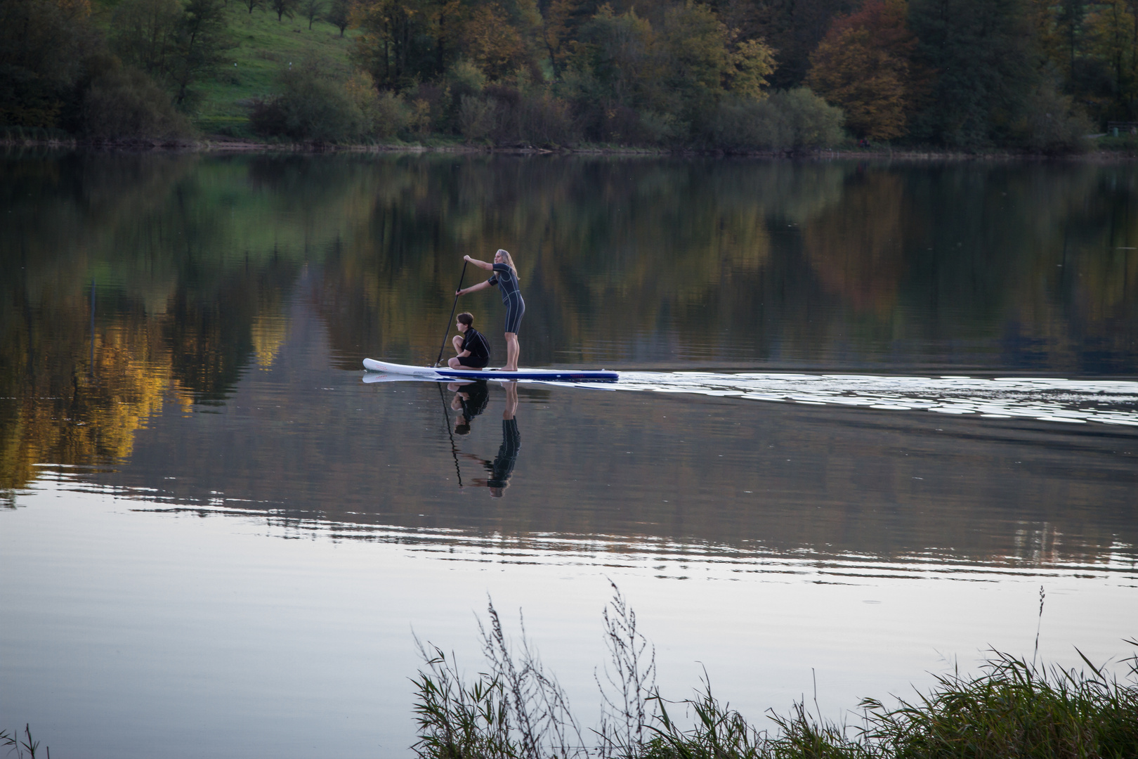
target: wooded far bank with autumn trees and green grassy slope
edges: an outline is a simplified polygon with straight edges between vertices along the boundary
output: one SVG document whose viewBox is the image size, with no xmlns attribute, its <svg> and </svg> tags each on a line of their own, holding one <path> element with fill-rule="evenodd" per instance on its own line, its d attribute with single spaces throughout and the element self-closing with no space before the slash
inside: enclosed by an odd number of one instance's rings
<svg viewBox="0 0 1138 759">
<path fill-rule="evenodd" d="M 1124 0 L 6 0 L 0 132 L 234 140 L 225 149 L 1125 152 L 1136 30 Z"/>
</svg>

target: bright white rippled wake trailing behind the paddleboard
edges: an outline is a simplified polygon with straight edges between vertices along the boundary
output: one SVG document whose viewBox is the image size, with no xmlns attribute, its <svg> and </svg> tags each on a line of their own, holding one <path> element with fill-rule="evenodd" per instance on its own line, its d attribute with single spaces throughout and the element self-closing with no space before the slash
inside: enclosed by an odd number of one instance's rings
<svg viewBox="0 0 1138 759">
<path fill-rule="evenodd" d="M 1075 424 L 1100 422 L 1138 427 L 1138 381 L 1127 380 L 620 372 L 618 382 L 592 387 L 818 406 L 975 414 L 986 419 L 1025 418 Z"/>
</svg>

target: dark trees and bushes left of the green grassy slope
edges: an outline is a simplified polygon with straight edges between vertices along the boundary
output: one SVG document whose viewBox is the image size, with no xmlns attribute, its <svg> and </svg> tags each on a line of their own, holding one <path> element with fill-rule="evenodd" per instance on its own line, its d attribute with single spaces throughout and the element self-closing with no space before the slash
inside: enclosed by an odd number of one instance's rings
<svg viewBox="0 0 1138 759">
<path fill-rule="evenodd" d="M 0 126 L 97 139 L 192 134 L 173 106 L 222 60 L 223 0 L 123 0 L 108 39 L 88 0 L 0 2 Z"/>
</svg>

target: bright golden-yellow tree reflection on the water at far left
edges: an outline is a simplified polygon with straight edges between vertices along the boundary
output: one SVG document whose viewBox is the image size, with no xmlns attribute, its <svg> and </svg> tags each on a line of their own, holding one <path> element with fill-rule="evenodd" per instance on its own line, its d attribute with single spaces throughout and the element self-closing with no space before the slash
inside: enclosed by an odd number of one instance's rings
<svg viewBox="0 0 1138 759">
<path fill-rule="evenodd" d="M 179 287 L 159 314 L 112 291 L 96 299 L 93 338 L 86 303 L 41 299 L 33 311 L 17 292 L 0 337 L 0 396 L 14 399 L 0 405 L 0 490 L 33 480 L 36 463 L 129 457 L 134 432 L 171 399 L 184 411 L 224 399 L 255 355 L 251 328 L 284 321 L 279 292 L 292 273 L 258 274 L 220 299 Z"/>
</svg>

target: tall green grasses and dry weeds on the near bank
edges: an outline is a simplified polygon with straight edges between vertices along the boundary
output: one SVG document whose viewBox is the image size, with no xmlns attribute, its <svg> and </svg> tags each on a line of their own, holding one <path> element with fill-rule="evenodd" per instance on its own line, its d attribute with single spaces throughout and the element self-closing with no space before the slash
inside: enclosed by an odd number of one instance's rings
<svg viewBox="0 0 1138 759">
<path fill-rule="evenodd" d="M 468 680 L 453 655 L 418 641 L 426 667 L 413 684 L 422 759 L 1031 759 L 1138 756 L 1138 655 L 1120 682 L 1082 652 L 1087 669 L 1063 669 L 991 651 L 976 675 L 939 675 L 927 692 L 887 706 L 864 699 L 858 723 L 834 723 L 806 701 L 767 711 L 770 729 L 712 693 L 669 701 L 655 686 L 655 652 L 616 585 L 602 613 L 609 661 L 594 670 L 595 726 L 579 721 L 533 643 L 511 641 L 488 604 L 478 622 L 485 657 Z M 1040 591 L 1040 616 L 1042 614 Z M 1125 643 L 1138 645 L 1138 640 Z M 1036 649 L 1038 653 L 1038 633 Z"/>
</svg>

